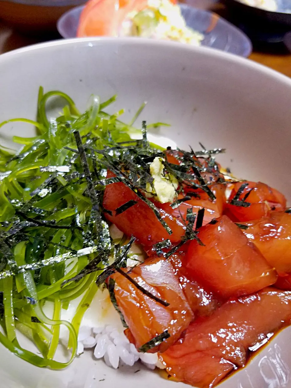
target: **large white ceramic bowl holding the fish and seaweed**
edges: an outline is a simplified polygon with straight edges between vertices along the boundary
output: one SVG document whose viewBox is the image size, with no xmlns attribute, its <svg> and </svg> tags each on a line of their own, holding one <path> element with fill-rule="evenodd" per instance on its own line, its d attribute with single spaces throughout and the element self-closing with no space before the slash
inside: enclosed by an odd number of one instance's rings
<svg viewBox="0 0 291 388">
<path fill-rule="evenodd" d="M 291 200 L 291 80 L 254 62 L 206 48 L 151 40 L 87 38 L 51 42 L 0 57 L 0 121 L 35 118 L 38 87 L 68 93 L 80 109 L 90 94 L 107 99 L 111 111 L 126 108 L 124 120 L 147 100 L 141 120 L 166 121 L 159 137 L 187 149 L 198 142 L 226 147 L 219 161 L 238 177 L 262 180 Z M 11 124 L 12 134 L 31 127 Z M 94 324 L 92 307 L 87 321 Z M 282 388 L 291 383 L 290 334 L 286 329 L 221 388 Z M 105 379 L 104 381 L 100 381 Z M 26 364 L 0 346 L 0 386 L 5 388 L 183 387 L 141 369 L 113 370 L 90 352 L 55 372 Z"/>
</svg>

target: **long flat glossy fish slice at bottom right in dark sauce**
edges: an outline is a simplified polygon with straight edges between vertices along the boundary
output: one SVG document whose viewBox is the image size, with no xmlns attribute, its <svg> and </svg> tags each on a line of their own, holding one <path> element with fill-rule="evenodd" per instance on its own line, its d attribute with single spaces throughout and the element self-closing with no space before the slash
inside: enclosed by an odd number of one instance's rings
<svg viewBox="0 0 291 388">
<path fill-rule="evenodd" d="M 249 347 L 290 320 L 291 292 L 267 288 L 226 302 L 210 317 L 198 318 L 160 357 L 178 381 L 213 387 L 246 364 Z"/>
</svg>

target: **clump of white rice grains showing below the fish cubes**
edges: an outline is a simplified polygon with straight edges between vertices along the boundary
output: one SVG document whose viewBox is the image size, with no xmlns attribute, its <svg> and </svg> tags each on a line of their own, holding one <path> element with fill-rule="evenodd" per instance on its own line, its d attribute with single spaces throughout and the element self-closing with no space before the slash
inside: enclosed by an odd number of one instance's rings
<svg viewBox="0 0 291 388">
<path fill-rule="evenodd" d="M 95 359 L 103 359 L 114 369 L 121 365 L 133 366 L 139 360 L 149 369 L 162 367 L 157 353 L 138 352 L 125 334 L 112 325 L 80 328 L 77 355 L 81 355 L 84 349 L 92 348 Z"/>
</svg>

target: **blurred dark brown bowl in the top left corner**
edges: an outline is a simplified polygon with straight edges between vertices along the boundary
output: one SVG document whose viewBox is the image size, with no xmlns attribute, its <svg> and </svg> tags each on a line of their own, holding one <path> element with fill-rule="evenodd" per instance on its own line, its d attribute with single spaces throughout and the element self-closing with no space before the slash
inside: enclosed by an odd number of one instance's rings
<svg viewBox="0 0 291 388">
<path fill-rule="evenodd" d="M 0 19 L 25 34 L 56 30 L 61 15 L 85 0 L 0 0 Z"/>
</svg>

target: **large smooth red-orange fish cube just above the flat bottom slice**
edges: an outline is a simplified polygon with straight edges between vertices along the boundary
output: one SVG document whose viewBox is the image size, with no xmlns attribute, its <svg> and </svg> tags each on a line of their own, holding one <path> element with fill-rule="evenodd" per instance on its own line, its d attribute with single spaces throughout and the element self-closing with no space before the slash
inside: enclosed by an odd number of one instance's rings
<svg viewBox="0 0 291 388">
<path fill-rule="evenodd" d="M 274 284 L 277 272 L 227 216 L 204 225 L 188 249 L 189 276 L 222 298 L 256 292 Z"/>
</svg>

